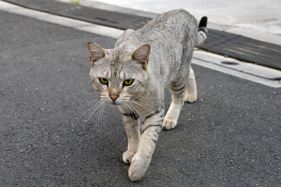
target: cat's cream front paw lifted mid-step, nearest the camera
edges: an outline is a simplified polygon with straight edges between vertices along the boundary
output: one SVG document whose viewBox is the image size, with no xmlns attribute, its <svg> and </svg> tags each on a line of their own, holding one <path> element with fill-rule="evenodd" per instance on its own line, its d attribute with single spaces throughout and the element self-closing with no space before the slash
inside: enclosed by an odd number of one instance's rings
<svg viewBox="0 0 281 187">
<path fill-rule="evenodd" d="M 134 156 L 132 159 L 131 166 L 129 168 L 129 177 L 131 181 L 140 180 L 141 177 L 145 174 L 145 171 L 148 168 L 150 159 L 143 160 L 140 156 Z"/>
</svg>

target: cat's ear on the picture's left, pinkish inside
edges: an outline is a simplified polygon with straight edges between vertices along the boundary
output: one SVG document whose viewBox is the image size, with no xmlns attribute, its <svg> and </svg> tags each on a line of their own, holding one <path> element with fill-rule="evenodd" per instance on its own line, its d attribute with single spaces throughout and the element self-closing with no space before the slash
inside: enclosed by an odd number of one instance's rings
<svg viewBox="0 0 281 187">
<path fill-rule="evenodd" d="M 101 48 L 101 46 L 97 45 L 93 41 L 88 41 L 87 47 L 90 54 L 90 62 L 92 68 L 96 60 L 99 60 L 105 56 L 105 51 Z"/>
</svg>

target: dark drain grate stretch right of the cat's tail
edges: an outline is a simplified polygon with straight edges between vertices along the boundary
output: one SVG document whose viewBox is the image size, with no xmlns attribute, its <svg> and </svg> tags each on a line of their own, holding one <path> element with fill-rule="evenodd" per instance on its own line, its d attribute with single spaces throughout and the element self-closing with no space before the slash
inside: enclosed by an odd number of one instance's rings
<svg viewBox="0 0 281 187">
<path fill-rule="evenodd" d="M 208 30 L 201 48 L 259 65 L 281 70 L 281 46 L 223 31 Z"/>
</svg>

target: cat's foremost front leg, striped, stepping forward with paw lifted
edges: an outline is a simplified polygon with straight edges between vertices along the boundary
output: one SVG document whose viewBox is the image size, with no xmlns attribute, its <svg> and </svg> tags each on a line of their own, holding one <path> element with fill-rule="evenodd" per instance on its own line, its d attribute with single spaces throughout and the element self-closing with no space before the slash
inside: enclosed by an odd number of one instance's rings
<svg viewBox="0 0 281 187">
<path fill-rule="evenodd" d="M 145 121 L 142 123 L 141 143 L 138 151 L 133 156 L 129 168 L 129 177 L 132 181 L 140 180 L 149 166 L 159 132 L 161 131 L 163 117 L 164 107 L 144 117 Z"/>
</svg>

